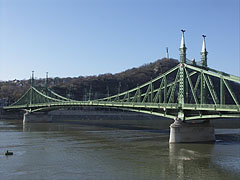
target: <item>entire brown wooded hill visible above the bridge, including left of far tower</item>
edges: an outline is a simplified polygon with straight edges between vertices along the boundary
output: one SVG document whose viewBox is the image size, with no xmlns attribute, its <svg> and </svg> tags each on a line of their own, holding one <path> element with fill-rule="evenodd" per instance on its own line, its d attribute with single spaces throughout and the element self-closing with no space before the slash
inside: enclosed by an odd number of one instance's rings
<svg viewBox="0 0 240 180">
<path fill-rule="evenodd" d="M 176 66 L 175 59 L 159 59 L 138 68 L 116 74 L 79 76 L 75 78 L 50 78 L 49 87 L 56 93 L 75 100 L 88 100 L 117 94 L 141 85 Z M 35 86 L 43 86 L 45 79 L 35 80 Z M 0 99 L 9 103 L 17 100 L 28 88 L 29 80 L 0 82 Z"/>
</svg>

